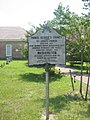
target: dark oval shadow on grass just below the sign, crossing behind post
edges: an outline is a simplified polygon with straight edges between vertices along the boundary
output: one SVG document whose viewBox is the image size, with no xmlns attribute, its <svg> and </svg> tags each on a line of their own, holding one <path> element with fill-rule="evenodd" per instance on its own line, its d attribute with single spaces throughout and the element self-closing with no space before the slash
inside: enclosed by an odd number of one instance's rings
<svg viewBox="0 0 90 120">
<path fill-rule="evenodd" d="M 49 75 L 49 82 L 59 80 L 63 77 L 63 74 Z M 45 73 L 35 74 L 35 73 L 25 73 L 20 74 L 20 79 L 27 82 L 45 82 Z"/>
</svg>

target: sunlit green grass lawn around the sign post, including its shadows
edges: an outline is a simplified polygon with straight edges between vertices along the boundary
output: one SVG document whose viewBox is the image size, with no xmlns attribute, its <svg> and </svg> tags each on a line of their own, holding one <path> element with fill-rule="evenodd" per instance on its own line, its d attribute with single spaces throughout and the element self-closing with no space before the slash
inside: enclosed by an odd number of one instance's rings
<svg viewBox="0 0 90 120">
<path fill-rule="evenodd" d="M 28 67 L 27 61 L 12 61 L 0 68 L 0 120 L 41 120 L 45 112 L 44 73 L 43 68 Z M 55 74 L 49 86 L 49 110 L 55 120 L 90 120 L 90 100 L 80 97 L 78 81 L 72 92 L 70 78 Z"/>
</svg>

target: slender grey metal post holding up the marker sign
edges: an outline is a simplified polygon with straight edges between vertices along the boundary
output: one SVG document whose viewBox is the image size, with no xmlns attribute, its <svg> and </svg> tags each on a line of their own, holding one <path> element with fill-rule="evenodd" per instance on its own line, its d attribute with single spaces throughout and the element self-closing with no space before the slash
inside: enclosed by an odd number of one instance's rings
<svg viewBox="0 0 90 120">
<path fill-rule="evenodd" d="M 46 120 L 49 120 L 49 65 L 45 66 L 46 71 Z"/>
</svg>

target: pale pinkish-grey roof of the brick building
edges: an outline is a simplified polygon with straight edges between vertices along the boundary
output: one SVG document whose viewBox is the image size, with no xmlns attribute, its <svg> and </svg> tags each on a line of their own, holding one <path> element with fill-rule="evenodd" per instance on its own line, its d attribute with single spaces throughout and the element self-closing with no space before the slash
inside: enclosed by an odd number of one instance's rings
<svg viewBox="0 0 90 120">
<path fill-rule="evenodd" d="M 0 41 L 22 40 L 26 31 L 21 27 L 0 27 Z"/>
</svg>

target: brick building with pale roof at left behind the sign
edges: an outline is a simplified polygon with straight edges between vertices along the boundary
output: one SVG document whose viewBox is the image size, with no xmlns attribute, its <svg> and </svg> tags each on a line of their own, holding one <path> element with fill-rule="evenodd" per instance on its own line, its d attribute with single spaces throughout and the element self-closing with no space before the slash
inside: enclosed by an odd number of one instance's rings
<svg viewBox="0 0 90 120">
<path fill-rule="evenodd" d="M 0 59 L 24 59 L 25 34 L 21 27 L 0 27 Z"/>
</svg>

